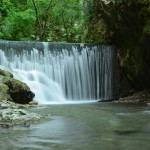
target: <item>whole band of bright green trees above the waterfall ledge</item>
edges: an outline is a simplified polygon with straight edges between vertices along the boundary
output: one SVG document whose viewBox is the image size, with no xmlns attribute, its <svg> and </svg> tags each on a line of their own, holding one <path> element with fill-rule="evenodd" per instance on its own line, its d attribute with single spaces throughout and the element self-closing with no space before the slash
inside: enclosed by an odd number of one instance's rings
<svg viewBox="0 0 150 150">
<path fill-rule="evenodd" d="M 81 42 L 81 0 L 0 0 L 0 39 Z"/>
</svg>

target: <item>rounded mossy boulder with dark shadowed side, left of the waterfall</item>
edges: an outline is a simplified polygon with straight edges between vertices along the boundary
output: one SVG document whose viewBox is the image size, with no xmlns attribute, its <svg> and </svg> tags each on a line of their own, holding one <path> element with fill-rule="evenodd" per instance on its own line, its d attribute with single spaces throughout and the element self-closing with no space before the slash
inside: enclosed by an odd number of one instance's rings
<svg viewBox="0 0 150 150">
<path fill-rule="evenodd" d="M 35 94 L 23 82 L 13 78 L 10 72 L 0 69 L 0 101 L 8 100 L 20 104 L 27 104 L 33 100 Z"/>
</svg>

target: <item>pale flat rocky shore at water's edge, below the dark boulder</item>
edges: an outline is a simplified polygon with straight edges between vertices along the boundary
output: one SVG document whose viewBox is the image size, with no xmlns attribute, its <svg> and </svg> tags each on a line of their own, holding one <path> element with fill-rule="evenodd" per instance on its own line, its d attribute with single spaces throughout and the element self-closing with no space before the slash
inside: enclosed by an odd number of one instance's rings
<svg viewBox="0 0 150 150">
<path fill-rule="evenodd" d="M 22 105 L 10 101 L 0 102 L 0 127 L 8 128 L 13 126 L 29 127 L 31 123 L 40 121 L 45 116 L 30 112 L 31 107 L 40 107 L 39 105 Z"/>
</svg>

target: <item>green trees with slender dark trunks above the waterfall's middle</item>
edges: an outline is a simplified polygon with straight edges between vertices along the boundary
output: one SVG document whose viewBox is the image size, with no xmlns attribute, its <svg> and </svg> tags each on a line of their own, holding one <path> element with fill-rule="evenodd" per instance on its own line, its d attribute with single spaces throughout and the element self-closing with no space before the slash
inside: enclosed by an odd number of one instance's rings
<svg viewBox="0 0 150 150">
<path fill-rule="evenodd" d="M 86 17 L 80 0 L 32 0 L 32 2 L 39 40 L 81 41 Z"/>
</svg>

